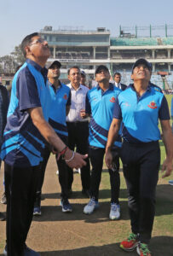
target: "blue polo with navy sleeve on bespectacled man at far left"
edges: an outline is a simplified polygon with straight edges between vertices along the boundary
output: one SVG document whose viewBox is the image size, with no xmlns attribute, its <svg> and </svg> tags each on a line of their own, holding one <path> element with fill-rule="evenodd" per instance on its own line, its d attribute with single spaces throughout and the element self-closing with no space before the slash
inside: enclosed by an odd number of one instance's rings
<svg viewBox="0 0 173 256">
<path fill-rule="evenodd" d="M 14 75 L 3 134 L 1 158 L 10 166 L 37 166 L 43 160 L 44 139 L 27 110 L 42 107 L 43 117 L 48 120 L 49 103 L 47 69 L 26 60 Z"/>
</svg>

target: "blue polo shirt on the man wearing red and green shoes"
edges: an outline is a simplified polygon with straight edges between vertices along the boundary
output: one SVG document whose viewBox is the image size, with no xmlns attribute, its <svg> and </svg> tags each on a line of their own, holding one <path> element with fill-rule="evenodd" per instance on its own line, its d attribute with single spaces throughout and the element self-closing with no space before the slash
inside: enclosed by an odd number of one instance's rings
<svg viewBox="0 0 173 256">
<path fill-rule="evenodd" d="M 113 118 L 122 119 L 122 136 L 129 143 L 149 143 L 160 139 L 159 119 L 170 119 L 168 103 L 160 88 L 149 84 L 138 96 L 133 84 L 118 95 Z"/>
</svg>

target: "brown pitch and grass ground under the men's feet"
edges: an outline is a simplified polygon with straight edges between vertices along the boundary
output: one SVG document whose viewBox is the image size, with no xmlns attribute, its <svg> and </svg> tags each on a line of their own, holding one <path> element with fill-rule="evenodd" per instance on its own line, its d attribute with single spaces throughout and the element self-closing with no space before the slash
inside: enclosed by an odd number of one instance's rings
<svg viewBox="0 0 173 256">
<path fill-rule="evenodd" d="M 166 96 L 170 106 L 171 96 Z M 161 164 L 165 158 L 164 145 L 160 141 Z M 123 173 L 121 176 L 120 203 L 122 216 L 119 221 L 108 219 L 110 207 L 110 183 L 107 168 L 102 172 L 100 187 L 100 209 L 87 216 L 83 213 L 88 199 L 81 195 L 81 181 L 74 175 L 73 195 L 70 200 L 71 214 L 61 212 L 57 206 L 60 199 L 60 186 L 57 185 L 55 159 L 51 156 L 43 185 L 43 216 L 33 218 L 27 244 L 41 256 L 135 256 L 136 252 L 124 253 L 118 245 L 130 232 L 130 218 L 127 211 L 127 190 Z M 3 170 L 2 170 L 3 171 Z M 156 215 L 153 225 L 153 239 L 150 244 L 153 256 L 173 255 L 173 186 L 168 184 L 170 177 L 162 178 L 159 173 L 157 187 Z M 0 195 L 3 193 L 3 172 L 0 173 Z M 0 211 L 5 206 L 0 205 Z M 5 245 L 5 223 L 0 222 L 0 255 Z"/>
</svg>

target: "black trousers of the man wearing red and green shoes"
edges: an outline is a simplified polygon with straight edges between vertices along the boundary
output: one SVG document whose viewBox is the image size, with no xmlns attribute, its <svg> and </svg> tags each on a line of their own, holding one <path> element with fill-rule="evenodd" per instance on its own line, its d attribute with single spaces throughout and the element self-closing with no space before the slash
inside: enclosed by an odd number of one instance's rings
<svg viewBox="0 0 173 256">
<path fill-rule="evenodd" d="M 141 242 L 150 241 L 155 215 L 155 191 L 159 178 L 159 142 L 123 143 L 121 159 L 129 193 L 128 207 L 132 232 Z"/>
</svg>

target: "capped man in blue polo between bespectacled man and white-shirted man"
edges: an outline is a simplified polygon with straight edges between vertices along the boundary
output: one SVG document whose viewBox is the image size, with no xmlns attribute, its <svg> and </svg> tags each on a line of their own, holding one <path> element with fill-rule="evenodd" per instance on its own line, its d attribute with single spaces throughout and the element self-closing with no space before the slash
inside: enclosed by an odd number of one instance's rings
<svg viewBox="0 0 173 256">
<path fill-rule="evenodd" d="M 69 87 L 62 84 L 59 77 L 61 75 L 61 62 L 54 61 L 48 69 L 49 91 L 51 96 L 51 104 L 49 111 L 49 124 L 54 128 L 56 134 L 61 140 L 67 144 L 67 128 L 66 115 L 69 113 L 71 105 L 71 92 Z M 58 110 L 58 111 L 57 111 Z M 49 144 L 45 145 L 43 151 L 43 163 L 41 165 L 41 175 L 37 186 L 37 195 L 34 205 L 33 215 L 41 215 L 41 193 L 43 187 L 43 179 L 46 166 L 51 153 Z M 61 184 L 61 207 L 62 212 L 72 212 L 72 206 L 68 201 L 67 189 L 67 168 L 66 161 L 62 156 L 58 159 L 58 154 L 55 155 L 56 163 L 59 169 L 59 182 Z"/>
</svg>

